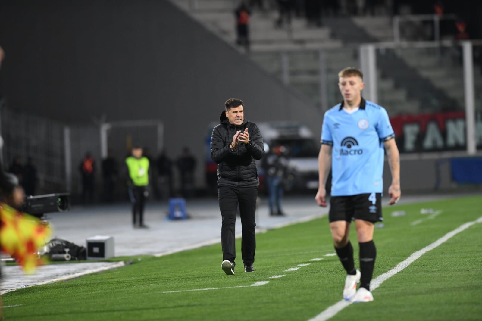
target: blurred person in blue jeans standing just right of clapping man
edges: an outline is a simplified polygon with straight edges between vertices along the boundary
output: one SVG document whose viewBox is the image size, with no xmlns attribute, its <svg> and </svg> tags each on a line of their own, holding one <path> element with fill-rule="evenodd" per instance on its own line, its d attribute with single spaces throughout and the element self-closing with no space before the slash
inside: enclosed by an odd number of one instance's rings
<svg viewBox="0 0 482 321">
<path fill-rule="evenodd" d="M 284 215 L 281 210 L 281 199 L 284 192 L 284 179 L 288 169 L 286 153 L 287 149 L 284 146 L 273 147 L 263 159 L 270 215 Z"/>
</svg>

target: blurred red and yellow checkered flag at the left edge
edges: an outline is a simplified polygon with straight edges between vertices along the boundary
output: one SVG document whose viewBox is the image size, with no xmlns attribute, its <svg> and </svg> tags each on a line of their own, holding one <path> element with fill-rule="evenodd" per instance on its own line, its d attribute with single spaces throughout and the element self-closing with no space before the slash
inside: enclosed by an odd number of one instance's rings
<svg viewBox="0 0 482 321">
<path fill-rule="evenodd" d="M 45 263 L 38 257 L 37 250 L 50 240 L 52 229 L 48 223 L 1 202 L 0 220 L 2 252 L 12 256 L 27 273 Z"/>
</svg>

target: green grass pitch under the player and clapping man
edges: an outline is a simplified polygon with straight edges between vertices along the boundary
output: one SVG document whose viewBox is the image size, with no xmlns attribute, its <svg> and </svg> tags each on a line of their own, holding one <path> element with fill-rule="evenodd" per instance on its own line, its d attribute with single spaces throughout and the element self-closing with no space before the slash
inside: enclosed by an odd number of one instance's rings
<svg viewBox="0 0 482 321">
<path fill-rule="evenodd" d="M 430 219 L 421 208 L 442 213 Z M 406 216 L 392 217 L 393 211 Z M 374 277 L 460 225 L 482 216 L 482 197 L 384 208 L 375 229 Z M 411 226 L 411 222 L 422 221 Z M 356 233 L 351 233 L 355 262 Z M 328 218 L 258 234 L 254 273 L 244 273 L 237 240 L 236 275 L 221 270 L 219 244 L 75 280 L 3 296 L 7 320 L 308 320 L 342 298 L 345 272 L 336 256 Z M 310 261 L 323 258 L 321 261 Z M 127 259 L 127 258 L 125 258 Z M 310 263 L 295 271 L 285 271 Z M 358 263 L 357 263 L 358 266 Z M 269 279 L 274 275 L 285 275 Z M 262 286 L 249 287 L 258 281 Z M 208 291 L 167 291 L 235 287 Z M 332 320 L 481 320 L 482 224 L 475 224 L 385 281 L 374 302 L 352 304 Z"/>
</svg>

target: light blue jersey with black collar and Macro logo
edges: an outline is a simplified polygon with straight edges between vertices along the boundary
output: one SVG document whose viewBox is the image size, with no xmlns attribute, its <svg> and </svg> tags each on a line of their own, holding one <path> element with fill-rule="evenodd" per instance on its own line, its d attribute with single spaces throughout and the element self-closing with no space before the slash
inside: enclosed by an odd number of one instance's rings
<svg viewBox="0 0 482 321">
<path fill-rule="evenodd" d="M 332 196 L 383 192 L 383 142 L 393 138 L 385 108 L 362 98 L 352 114 L 343 103 L 325 112 L 321 144 L 333 146 Z"/>
</svg>

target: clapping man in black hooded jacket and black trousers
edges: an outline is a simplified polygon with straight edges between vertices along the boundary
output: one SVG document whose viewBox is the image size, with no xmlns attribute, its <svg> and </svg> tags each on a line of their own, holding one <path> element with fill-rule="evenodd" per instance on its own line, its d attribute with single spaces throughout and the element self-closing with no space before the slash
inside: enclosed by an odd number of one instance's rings
<svg viewBox="0 0 482 321">
<path fill-rule="evenodd" d="M 255 215 L 259 177 L 256 161 L 265 154 L 263 137 L 258 126 L 244 118 L 240 99 L 231 98 L 224 104 L 220 123 L 211 136 L 211 158 L 217 165 L 217 188 L 221 210 L 221 268 L 234 275 L 235 225 L 238 205 L 241 214 L 241 254 L 245 272 L 253 272 L 256 249 Z"/>
</svg>

